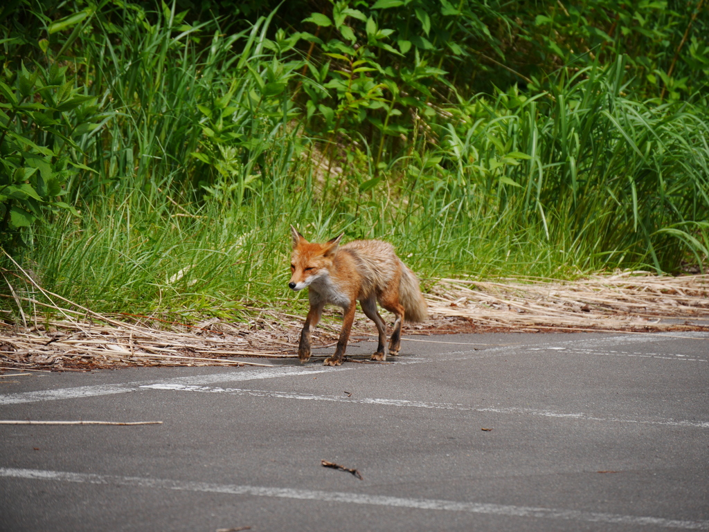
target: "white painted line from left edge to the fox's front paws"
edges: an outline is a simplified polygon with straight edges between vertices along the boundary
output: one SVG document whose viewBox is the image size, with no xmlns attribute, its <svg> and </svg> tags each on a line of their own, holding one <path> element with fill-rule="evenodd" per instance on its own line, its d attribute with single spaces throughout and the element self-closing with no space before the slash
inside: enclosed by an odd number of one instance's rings
<svg viewBox="0 0 709 532">
<path fill-rule="evenodd" d="M 232 383 L 242 380 L 271 379 L 278 377 L 292 377 L 296 375 L 310 375 L 311 373 L 323 373 L 323 371 L 342 370 L 345 368 L 325 368 L 324 366 L 313 368 L 264 368 L 250 369 L 243 368 L 238 371 L 227 373 L 211 373 L 209 375 L 194 375 L 192 377 L 177 377 L 166 380 L 138 380 L 134 383 L 123 384 L 101 384 L 95 386 L 79 386 L 73 388 L 60 388 L 59 390 L 38 390 L 36 392 L 20 392 L 0 395 L 0 404 L 18 404 L 24 402 L 55 401 L 63 399 L 77 399 L 80 397 L 94 397 L 96 395 L 112 395 L 118 393 L 135 392 L 143 385 L 150 384 L 181 384 L 181 385 L 208 385 L 215 383 Z"/>
</svg>

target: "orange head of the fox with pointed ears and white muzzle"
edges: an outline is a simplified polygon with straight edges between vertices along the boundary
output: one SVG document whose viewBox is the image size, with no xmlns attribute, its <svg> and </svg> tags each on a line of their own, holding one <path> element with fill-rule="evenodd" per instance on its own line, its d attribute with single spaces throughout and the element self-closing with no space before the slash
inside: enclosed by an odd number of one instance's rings
<svg viewBox="0 0 709 532">
<path fill-rule="evenodd" d="M 328 240 L 325 244 L 308 242 L 295 227 L 291 225 L 293 237 L 293 254 L 291 254 L 291 281 L 288 283 L 293 290 L 303 290 L 312 283 L 330 275 L 337 245 L 342 235 Z"/>
</svg>

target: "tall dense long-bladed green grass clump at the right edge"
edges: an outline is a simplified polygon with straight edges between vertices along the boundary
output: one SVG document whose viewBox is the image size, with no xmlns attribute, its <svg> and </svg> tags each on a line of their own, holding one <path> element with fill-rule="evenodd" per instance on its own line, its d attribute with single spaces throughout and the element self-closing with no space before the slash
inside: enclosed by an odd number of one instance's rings
<svg viewBox="0 0 709 532">
<path fill-rule="evenodd" d="M 464 188 L 495 198 L 486 208 L 513 205 L 588 266 L 671 271 L 683 251 L 709 249 L 709 114 L 623 96 L 624 72 L 621 56 L 562 72 L 547 94 L 476 97 L 469 127 L 448 125 L 449 157 Z"/>
</svg>

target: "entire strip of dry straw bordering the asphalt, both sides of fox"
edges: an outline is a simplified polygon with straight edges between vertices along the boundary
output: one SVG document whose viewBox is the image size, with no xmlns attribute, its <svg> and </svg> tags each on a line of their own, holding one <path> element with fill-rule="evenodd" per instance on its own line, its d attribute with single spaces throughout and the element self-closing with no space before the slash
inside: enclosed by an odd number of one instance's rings
<svg viewBox="0 0 709 532">
<path fill-rule="evenodd" d="M 302 324 L 302 317 L 262 309 L 255 310 L 248 323 L 208 319 L 192 326 L 166 326 L 150 317 L 98 315 L 67 300 L 60 307 L 53 302 L 60 296 L 42 292 L 50 303 L 32 302 L 52 308 L 62 319 L 38 322 L 35 315 L 30 317 L 33 324 L 27 324 L 23 316 L 23 326 L 5 325 L 0 332 L 0 370 L 269 366 L 245 358 L 294 358 Z M 430 322 L 409 332 L 709 329 L 708 295 L 706 275 L 629 272 L 574 282 L 440 279 L 427 295 Z M 313 343 L 331 344 L 337 329 L 337 324 L 322 324 Z M 362 317 L 354 334 L 371 329 Z"/>
</svg>

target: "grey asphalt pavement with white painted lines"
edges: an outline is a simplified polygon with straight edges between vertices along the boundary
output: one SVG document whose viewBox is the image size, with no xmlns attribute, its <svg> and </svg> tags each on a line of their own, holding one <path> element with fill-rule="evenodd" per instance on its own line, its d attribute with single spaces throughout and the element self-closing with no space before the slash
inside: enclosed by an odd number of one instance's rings
<svg viewBox="0 0 709 532">
<path fill-rule="evenodd" d="M 709 530 L 709 334 L 408 338 L 0 378 L 1 419 L 163 422 L 1 425 L 0 530 Z"/>
</svg>

